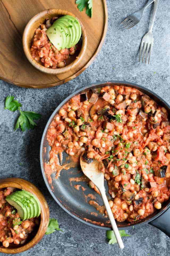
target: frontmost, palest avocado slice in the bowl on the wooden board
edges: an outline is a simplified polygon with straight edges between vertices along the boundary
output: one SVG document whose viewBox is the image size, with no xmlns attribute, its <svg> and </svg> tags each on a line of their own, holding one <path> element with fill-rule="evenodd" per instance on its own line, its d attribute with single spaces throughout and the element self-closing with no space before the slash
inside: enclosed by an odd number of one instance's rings
<svg viewBox="0 0 170 256">
<path fill-rule="evenodd" d="M 66 37 L 61 30 L 54 26 L 54 23 L 46 30 L 46 34 L 52 44 L 60 51 L 63 48 L 63 45 L 66 44 Z"/>
</svg>

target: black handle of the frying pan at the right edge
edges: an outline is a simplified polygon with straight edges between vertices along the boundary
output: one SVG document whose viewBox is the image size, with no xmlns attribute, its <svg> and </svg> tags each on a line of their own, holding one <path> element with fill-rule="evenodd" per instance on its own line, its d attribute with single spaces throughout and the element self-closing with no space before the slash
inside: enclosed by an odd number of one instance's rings
<svg viewBox="0 0 170 256">
<path fill-rule="evenodd" d="M 161 231 L 163 231 L 168 237 L 170 237 L 170 207 L 161 214 L 158 218 L 154 219 L 153 221 L 148 222 L 148 224 L 157 227 Z"/>
</svg>

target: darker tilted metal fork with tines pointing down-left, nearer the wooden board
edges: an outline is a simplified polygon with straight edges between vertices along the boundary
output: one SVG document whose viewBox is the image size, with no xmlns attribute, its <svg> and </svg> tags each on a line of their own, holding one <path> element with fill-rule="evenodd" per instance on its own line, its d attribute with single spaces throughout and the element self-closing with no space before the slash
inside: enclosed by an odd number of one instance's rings
<svg viewBox="0 0 170 256">
<path fill-rule="evenodd" d="M 150 5 L 153 2 L 154 0 L 149 0 L 142 9 L 140 9 L 139 11 L 135 11 L 134 13 L 129 15 L 124 21 L 122 21 L 121 24 L 123 25 L 124 29 L 131 29 L 132 27 L 136 26 L 139 23 L 139 21 L 141 21 L 143 12 L 146 9 L 146 7 L 148 7 L 148 5 Z"/>
</svg>

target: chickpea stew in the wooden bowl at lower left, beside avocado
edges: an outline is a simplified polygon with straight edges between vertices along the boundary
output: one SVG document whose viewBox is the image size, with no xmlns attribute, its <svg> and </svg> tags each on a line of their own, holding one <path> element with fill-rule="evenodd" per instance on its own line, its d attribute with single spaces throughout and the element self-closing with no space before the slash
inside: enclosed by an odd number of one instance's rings
<svg viewBox="0 0 170 256">
<path fill-rule="evenodd" d="M 17 210 L 6 199 L 14 194 L 14 187 L 0 190 L 0 242 L 3 247 L 16 247 L 24 245 L 30 240 L 39 226 L 38 218 L 22 221 Z M 32 234 L 31 234 L 32 233 Z"/>
</svg>

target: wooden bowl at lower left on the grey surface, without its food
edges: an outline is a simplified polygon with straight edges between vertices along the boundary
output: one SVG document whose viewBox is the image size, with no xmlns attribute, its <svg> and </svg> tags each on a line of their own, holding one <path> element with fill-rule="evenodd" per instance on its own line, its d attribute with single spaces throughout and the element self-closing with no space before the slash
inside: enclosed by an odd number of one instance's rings
<svg viewBox="0 0 170 256">
<path fill-rule="evenodd" d="M 24 179 L 20 179 L 20 178 L 0 179 L 0 189 L 5 187 L 16 187 L 17 189 L 24 189 L 29 191 L 39 199 L 40 205 L 41 205 L 40 226 L 39 226 L 39 229 L 37 230 L 36 235 L 32 238 L 32 240 L 24 245 L 19 245 L 18 247 L 15 247 L 15 248 L 0 247 L 1 253 L 8 253 L 8 254 L 21 253 L 35 246 L 43 238 L 49 223 L 49 215 L 50 215 L 49 208 L 43 194 L 40 192 L 39 189 L 37 189 L 36 186 L 34 186 L 29 181 L 25 181 Z"/>
</svg>

